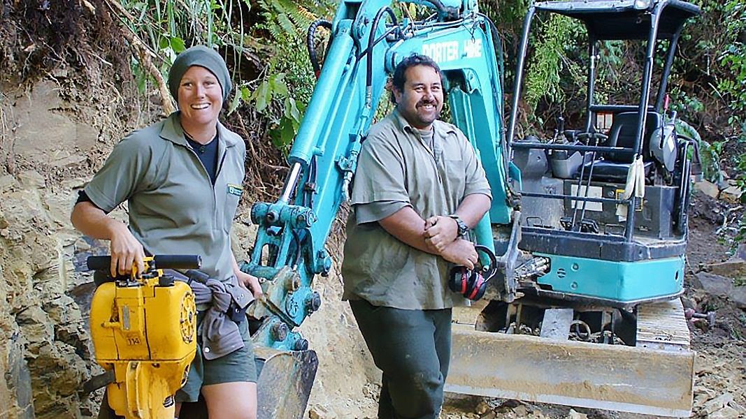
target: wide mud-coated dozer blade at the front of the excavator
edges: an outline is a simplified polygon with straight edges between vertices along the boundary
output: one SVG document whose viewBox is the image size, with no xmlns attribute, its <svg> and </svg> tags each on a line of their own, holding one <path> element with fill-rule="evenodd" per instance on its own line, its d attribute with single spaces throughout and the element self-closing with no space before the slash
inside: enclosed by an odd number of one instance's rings
<svg viewBox="0 0 746 419">
<path fill-rule="evenodd" d="M 667 304 L 662 303 L 659 308 L 670 312 Z M 680 317 L 686 328 L 683 315 Z M 671 329 L 662 332 L 670 337 Z M 689 417 L 694 363 L 688 330 L 686 345 L 658 347 L 638 341 L 638 346 L 628 347 L 481 332 L 474 330 L 473 324 L 454 324 L 451 370 L 445 390 Z"/>
</svg>

